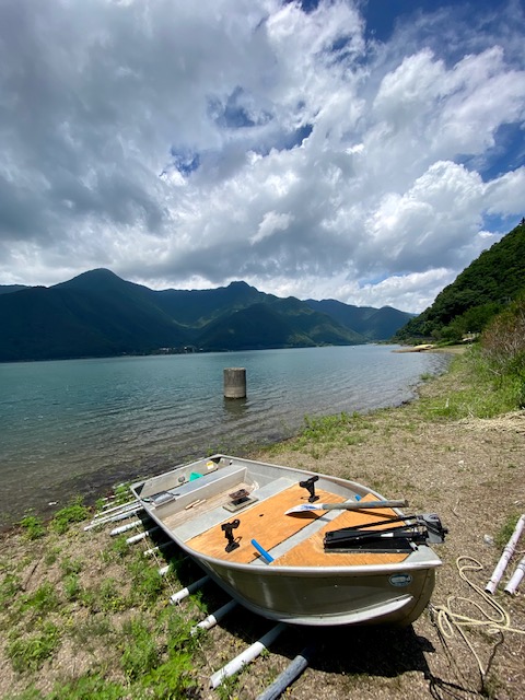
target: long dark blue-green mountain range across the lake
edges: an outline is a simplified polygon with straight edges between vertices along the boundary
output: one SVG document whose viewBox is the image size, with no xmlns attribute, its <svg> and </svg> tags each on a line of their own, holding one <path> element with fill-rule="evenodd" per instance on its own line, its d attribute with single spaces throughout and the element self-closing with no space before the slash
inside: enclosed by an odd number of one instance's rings
<svg viewBox="0 0 525 700">
<path fill-rule="evenodd" d="M 412 316 L 242 281 L 156 291 L 95 269 L 48 288 L 0 285 L 0 361 L 360 345 L 388 340 Z"/>
</svg>

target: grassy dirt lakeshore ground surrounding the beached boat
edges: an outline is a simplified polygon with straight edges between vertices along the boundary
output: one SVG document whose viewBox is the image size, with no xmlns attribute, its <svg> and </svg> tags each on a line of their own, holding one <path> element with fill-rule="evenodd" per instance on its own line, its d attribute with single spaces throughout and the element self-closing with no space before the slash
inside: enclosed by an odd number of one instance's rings
<svg viewBox="0 0 525 700">
<path fill-rule="evenodd" d="M 171 605 L 200 570 L 174 548 L 145 556 L 151 538 L 128 545 L 129 533 L 110 536 L 113 525 L 84 530 L 94 512 L 73 500 L 47 523 L 28 513 L 0 535 L 0 698 L 252 700 L 307 642 L 316 653 L 288 700 L 523 698 L 525 584 L 503 593 L 523 536 L 488 602 L 482 590 L 525 512 L 524 389 L 483 364 L 476 348 L 462 348 L 445 374 L 421 382 L 418 398 L 401 407 L 306 417 L 293 440 L 246 455 L 354 478 L 441 516 L 450 529 L 436 547 L 443 567 L 432 608 L 412 626 L 289 628 L 211 690 L 212 673 L 271 622 L 234 611 L 192 634 L 225 595 L 208 584 Z M 127 489 L 116 499 L 127 500 Z M 448 627 L 455 615 L 467 623 Z"/>
</svg>

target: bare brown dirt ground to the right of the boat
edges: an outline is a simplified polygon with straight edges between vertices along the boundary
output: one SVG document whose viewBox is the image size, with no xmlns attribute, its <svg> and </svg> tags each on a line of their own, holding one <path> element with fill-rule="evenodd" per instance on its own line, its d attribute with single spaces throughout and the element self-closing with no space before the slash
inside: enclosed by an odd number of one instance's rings
<svg viewBox="0 0 525 700">
<path fill-rule="evenodd" d="M 438 393 L 446 401 L 447 381 L 430 383 L 421 394 Z M 285 697 L 304 700 L 320 688 L 317 697 L 326 700 L 525 698 L 525 583 L 516 596 L 503 593 L 525 553 L 525 534 L 492 597 L 503 612 L 488 606 L 460 572 L 482 593 L 502 552 L 494 538 L 510 517 L 525 513 L 525 411 L 429 423 L 419 420 L 416 402 L 380 411 L 366 424 L 359 444 L 329 452 L 322 468 L 318 459 L 296 452 L 280 453 L 279 463 L 352 478 L 387 498 L 407 498 L 416 512 L 438 513 L 450 532 L 435 548 L 443 567 L 432 596 L 434 615 L 444 608 L 488 621 L 488 614 L 500 629 L 468 626 L 465 639 L 457 629 L 448 638 L 425 611 L 408 630 L 338 632 L 334 644 L 325 639 L 324 656 Z M 329 658 L 338 660 L 339 675 Z"/>
</svg>

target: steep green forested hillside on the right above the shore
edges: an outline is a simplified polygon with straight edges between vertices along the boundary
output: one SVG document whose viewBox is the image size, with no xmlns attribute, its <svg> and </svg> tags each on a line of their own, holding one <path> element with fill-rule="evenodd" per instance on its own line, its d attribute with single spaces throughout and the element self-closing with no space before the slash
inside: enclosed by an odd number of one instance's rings
<svg viewBox="0 0 525 700">
<path fill-rule="evenodd" d="M 481 331 L 512 300 L 525 293 L 525 220 L 481 253 L 432 306 L 395 335 L 399 341 L 459 340 Z"/>
</svg>

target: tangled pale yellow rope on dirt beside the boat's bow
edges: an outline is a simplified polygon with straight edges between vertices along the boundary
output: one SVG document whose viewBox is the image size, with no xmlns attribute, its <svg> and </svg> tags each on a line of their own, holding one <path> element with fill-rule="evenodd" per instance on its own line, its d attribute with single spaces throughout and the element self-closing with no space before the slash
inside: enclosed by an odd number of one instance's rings
<svg viewBox="0 0 525 700">
<path fill-rule="evenodd" d="M 493 610 L 493 614 L 492 616 L 489 615 L 486 608 L 483 608 L 476 600 L 471 600 L 470 598 L 465 598 L 462 596 L 448 596 L 446 598 L 445 605 L 430 604 L 431 619 L 432 622 L 438 627 L 444 639 L 453 639 L 455 632 L 457 632 L 462 637 L 462 639 L 472 653 L 474 657 L 476 658 L 476 663 L 478 664 L 481 677 L 485 678 L 488 673 L 489 666 L 483 666 L 481 658 L 479 657 L 478 653 L 474 649 L 472 643 L 466 635 L 464 628 L 485 628 L 485 630 L 489 634 L 500 634 L 499 643 L 503 641 L 504 632 L 525 634 L 525 630 L 513 628 L 511 626 L 511 618 L 509 614 L 498 603 L 498 600 L 495 600 L 486 591 L 483 591 L 481 586 L 478 586 L 476 583 L 470 581 L 467 572 L 481 571 L 483 569 L 482 564 L 479 561 L 477 561 L 472 557 L 458 557 L 456 559 L 456 567 L 459 578 L 465 581 L 481 597 L 486 606 Z M 455 611 L 453 608 L 456 607 L 458 603 L 466 603 L 470 606 L 474 606 L 479 611 L 480 617 L 472 618 Z"/>
</svg>

